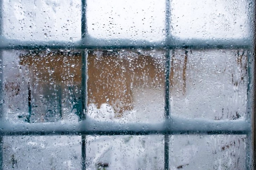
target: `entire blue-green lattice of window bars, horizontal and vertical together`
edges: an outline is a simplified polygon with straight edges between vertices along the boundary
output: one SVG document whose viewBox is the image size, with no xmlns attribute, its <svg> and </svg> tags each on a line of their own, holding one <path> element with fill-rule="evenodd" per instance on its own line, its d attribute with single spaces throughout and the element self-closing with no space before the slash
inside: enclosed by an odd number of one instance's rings
<svg viewBox="0 0 256 170">
<path fill-rule="evenodd" d="M 0 1 L 2 7 L 2 1 Z M 255 115 L 254 115 L 254 98 L 253 93 L 254 82 L 254 60 L 253 55 L 249 55 L 248 62 L 248 88 L 247 88 L 247 119 L 232 121 L 211 121 L 206 119 L 186 119 L 171 116 L 170 108 L 170 91 L 169 91 L 169 72 L 170 72 L 170 56 L 174 54 L 175 49 L 221 49 L 221 48 L 244 48 L 252 50 L 251 54 L 255 54 L 255 36 L 252 40 L 229 40 L 229 41 L 178 41 L 172 38 L 170 33 L 170 0 L 166 0 L 166 39 L 164 43 L 151 43 L 146 41 L 130 41 L 130 40 L 110 40 L 97 41 L 88 36 L 86 25 L 86 0 L 82 0 L 81 15 L 81 40 L 77 42 L 56 42 L 56 41 L 38 41 L 23 42 L 16 40 L 7 40 L 1 37 L 0 50 L 4 49 L 81 49 L 82 67 L 81 67 L 81 100 L 82 100 L 82 120 L 77 124 L 55 124 L 55 123 L 22 123 L 8 124 L 1 120 L 3 113 L 3 95 L 0 95 L 0 169 L 2 168 L 2 137 L 10 135 L 81 135 L 81 169 L 86 169 L 86 135 L 164 135 L 164 169 L 169 169 L 169 135 L 173 134 L 243 134 L 247 135 L 247 156 L 246 168 L 255 168 L 254 157 L 255 152 Z M 250 23 L 255 21 L 255 4 L 251 4 Z M 2 19 L 2 16 L 0 16 Z M 2 22 L 0 22 L 0 33 L 2 33 Z M 252 35 L 255 35 L 255 22 L 251 25 Z M 166 50 L 166 81 L 165 81 L 165 106 L 164 120 L 161 123 L 113 123 L 99 122 L 86 119 L 87 113 L 87 50 L 88 49 L 164 49 Z M 1 51 L 0 51 L 1 52 Z M 0 54 L 0 66 L 2 66 L 2 53 Z M 3 76 L 2 67 L 0 67 L 0 92 L 3 93 Z M 29 100 L 28 100 L 29 101 Z M 182 125 L 186 123 L 187 125 Z"/>
</svg>

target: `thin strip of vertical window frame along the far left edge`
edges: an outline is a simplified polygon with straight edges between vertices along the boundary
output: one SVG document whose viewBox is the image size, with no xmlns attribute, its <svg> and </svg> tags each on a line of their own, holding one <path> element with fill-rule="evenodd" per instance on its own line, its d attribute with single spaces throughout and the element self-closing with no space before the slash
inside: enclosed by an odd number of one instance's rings
<svg viewBox="0 0 256 170">
<path fill-rule="evenodd" d="M 0 36 L 3 33 L 3 27 L 2 27 L 2 14 L 3 14 L 3 2 L 0 0 Z M 2 51 L 0 51 L 0 121 L 2 121 L 3 114 L 4 114 L 4 87 L 3 87 L 3 57 L 2 57 Z M 3 169 L 3 137 L 0 136 L 0 170 Z"/>
</svg>

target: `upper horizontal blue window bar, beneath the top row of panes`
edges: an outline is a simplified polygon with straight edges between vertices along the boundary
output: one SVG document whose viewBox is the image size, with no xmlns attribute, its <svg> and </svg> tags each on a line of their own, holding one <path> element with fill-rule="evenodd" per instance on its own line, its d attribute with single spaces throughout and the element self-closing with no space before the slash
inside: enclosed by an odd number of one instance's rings
<svg viewBox="0 0 256 170">
<path fill-rule="evenodd" d="M 74 42 L 70 41 L 20 41 L 6 39 L 0 37 L 0 50 L 8 49 L 27 49 L 27 50 L 42 50 L 42 49 L 175 49 L 175 48 L 191 48 L 191 49 L 237 49 L 252 48 L 251 39 L 188 39 L 181 40 L 170 38 L 160 42 L 149 42 L 142 40 L 129 39 L 95 39 L 83 38 Z"/>
</svg>

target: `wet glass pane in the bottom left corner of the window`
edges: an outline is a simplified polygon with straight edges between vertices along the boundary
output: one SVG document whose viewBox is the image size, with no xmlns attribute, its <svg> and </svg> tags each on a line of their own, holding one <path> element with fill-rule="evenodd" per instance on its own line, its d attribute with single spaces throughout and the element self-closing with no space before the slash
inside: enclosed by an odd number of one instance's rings
<svg viewBox="0 0 256 170">
<path fill-rule="evenodd" d="M 81 136 L 9 136 L 3 169 L 81 169 Z"/>
</svg>

